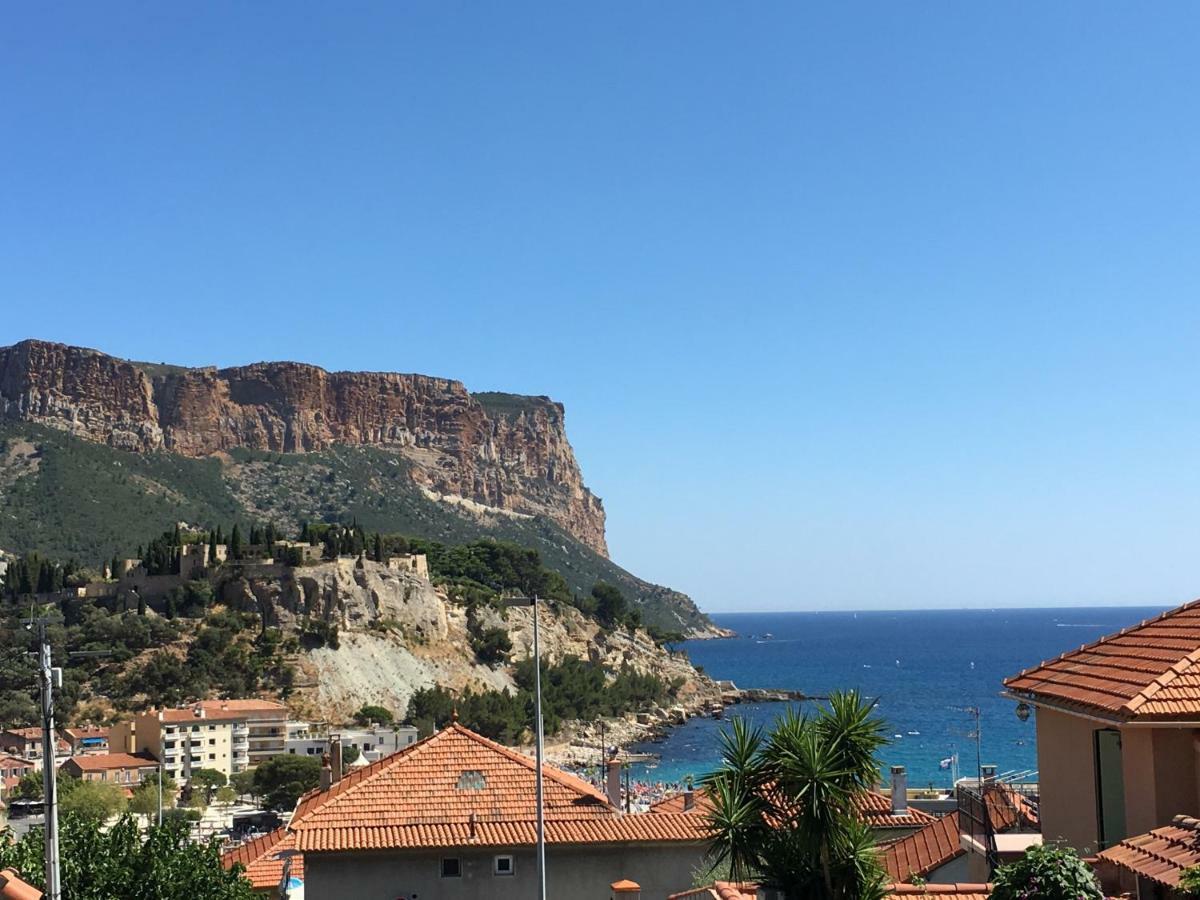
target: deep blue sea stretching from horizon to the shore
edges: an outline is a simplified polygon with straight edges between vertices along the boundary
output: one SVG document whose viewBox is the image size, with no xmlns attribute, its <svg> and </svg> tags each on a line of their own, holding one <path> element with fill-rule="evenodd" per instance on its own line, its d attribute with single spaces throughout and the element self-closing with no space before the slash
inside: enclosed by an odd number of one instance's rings
<svg viewBox="0 0 1200 900">
<path fill-rule="evenodd" d="M 979 707 L 983 763 L 1001 772 L 1037 768 L 1034 718 L 1021 722 L 1001 682 L 1022 668 L 1118 631 L 1163 607 L 1055 610 L 946 610 L 910 612 L 790 612 L 713 616 L 738 636 L 682 644 L 716 679 L 739 688 L 827 695 L 858 689 L 878 701 L 890 743 L 886 767 L 908 769 L 918 786 L 949 786 L 938 763 L 959 755 L 961 774 L 976 770 L 974 720 Z M 679 781 L 718 764 L 720 731 L 731 716 L 770 722 L 790 704 L 739 704 L 726 721 L 692 719 L 666 739 L 632 749 L 660 755 L 634 776 Z M 803 706 L 803 704 L 800 704 Z"/>
</svg>

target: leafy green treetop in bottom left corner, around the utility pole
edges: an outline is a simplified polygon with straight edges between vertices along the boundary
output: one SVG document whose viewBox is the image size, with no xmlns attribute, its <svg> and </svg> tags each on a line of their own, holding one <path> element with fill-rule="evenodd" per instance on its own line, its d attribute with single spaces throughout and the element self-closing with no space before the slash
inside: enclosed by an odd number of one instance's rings
<svg viewBox="0 0 1200 900">
<path fill-rule="evenodd" d="M 0 840 L 0 868 L 13 868 L 35 886 L 46 882 L 42 830 L 19 840 Z M 151 827 L 146 835 L 133 818 L 104 830 L 94 818 L 64 815 L 60 821 L 62 900 L 251 900 L 240 870 L 221 865 L 216 841 L 193 844 L 186 826 Z"/>
</svg>

